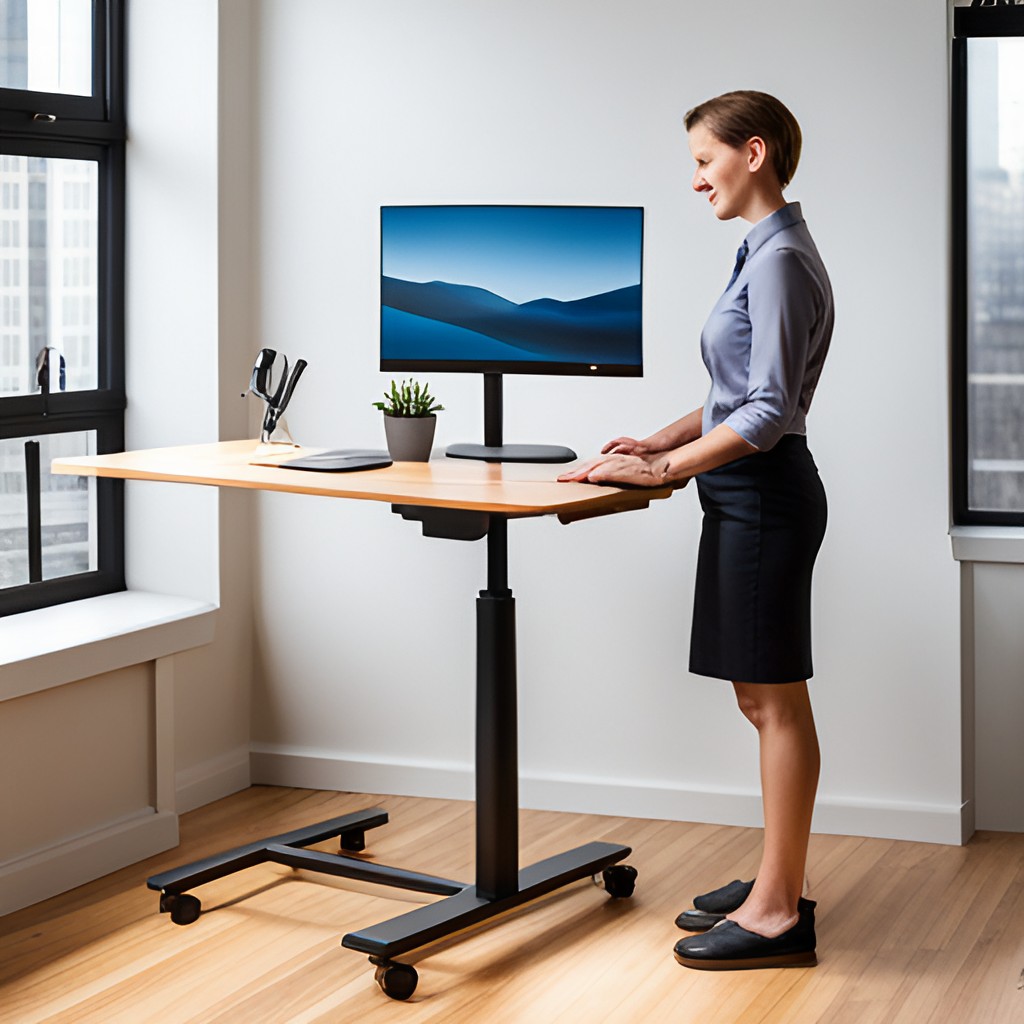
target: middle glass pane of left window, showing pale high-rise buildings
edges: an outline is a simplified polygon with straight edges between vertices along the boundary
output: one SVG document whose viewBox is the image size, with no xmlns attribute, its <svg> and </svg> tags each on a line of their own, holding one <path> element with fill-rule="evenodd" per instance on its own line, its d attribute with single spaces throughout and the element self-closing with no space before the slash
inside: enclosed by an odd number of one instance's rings
<svg viewBox="0 0 1024 1024">
<path fill-rule="evenodd" d="M 97 182 L 91 160 L 0 155 L 0 396 L 39 390 L 47 346 L 66 390 L 97 387 Z"/>
</svg>

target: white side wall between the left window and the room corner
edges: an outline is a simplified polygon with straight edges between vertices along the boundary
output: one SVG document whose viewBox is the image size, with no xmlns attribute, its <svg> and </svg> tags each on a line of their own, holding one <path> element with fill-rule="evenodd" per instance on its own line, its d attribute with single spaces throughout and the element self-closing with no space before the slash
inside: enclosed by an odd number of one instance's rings
<svg viewBox="0 0 1024 1024">
<path fill-rule="evenodd" d="M 130 449 L 245 437 L 251 308 L 250 10 L 150 0 L 129 20 Z M 252 611 L 246 496 L 129 483 L 129 587 L 221 604 L 175 658 L 179 809 L 248 784 Z"/>
</svg>

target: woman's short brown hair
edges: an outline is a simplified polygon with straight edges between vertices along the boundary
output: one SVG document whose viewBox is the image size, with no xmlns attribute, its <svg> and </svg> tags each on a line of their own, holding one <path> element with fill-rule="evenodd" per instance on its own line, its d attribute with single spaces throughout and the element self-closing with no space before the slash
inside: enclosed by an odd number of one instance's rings
<svg viewBox="0 0 1024 1024">
<path fill-rule="evenodd" d="M 767 92 L 737 89 L 706 99 L 683 118 L 686 130 L 705 124 L 720 141 L 739 148 L 755 135 L 768 145 L 768 156 L 784 188 L 797 173 L 803 136 L 790 109 Z"/>
</svg>

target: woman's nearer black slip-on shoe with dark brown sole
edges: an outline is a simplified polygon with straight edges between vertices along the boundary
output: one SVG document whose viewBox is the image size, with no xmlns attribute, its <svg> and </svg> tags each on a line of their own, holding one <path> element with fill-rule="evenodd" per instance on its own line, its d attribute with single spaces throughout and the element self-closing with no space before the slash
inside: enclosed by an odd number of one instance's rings
<svg viewBox="0 0 1024 1024">
<path fill-rule="evenodd" d="M 724 921 L 706 935 L 691 935 L 676 943 L 676 959 L 697 971 L 752 971 L 771 967 L 814 967 L 814 900 L 802 899 L 800 918 L 787 932 L 773 939 L 748 932 L 734 921 Z"/>
</svg>

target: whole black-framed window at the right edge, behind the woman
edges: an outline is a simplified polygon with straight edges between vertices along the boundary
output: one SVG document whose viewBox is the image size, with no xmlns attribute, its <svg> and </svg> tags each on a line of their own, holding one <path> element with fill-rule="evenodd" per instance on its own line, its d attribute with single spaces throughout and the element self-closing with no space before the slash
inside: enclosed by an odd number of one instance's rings
<svg viewBox="0 0 1024 1024">
<path fill-rule="evenodd" d="M 952 489 L 1024 525 L 1024 6 L 953 11 Z"/>
</svg>

